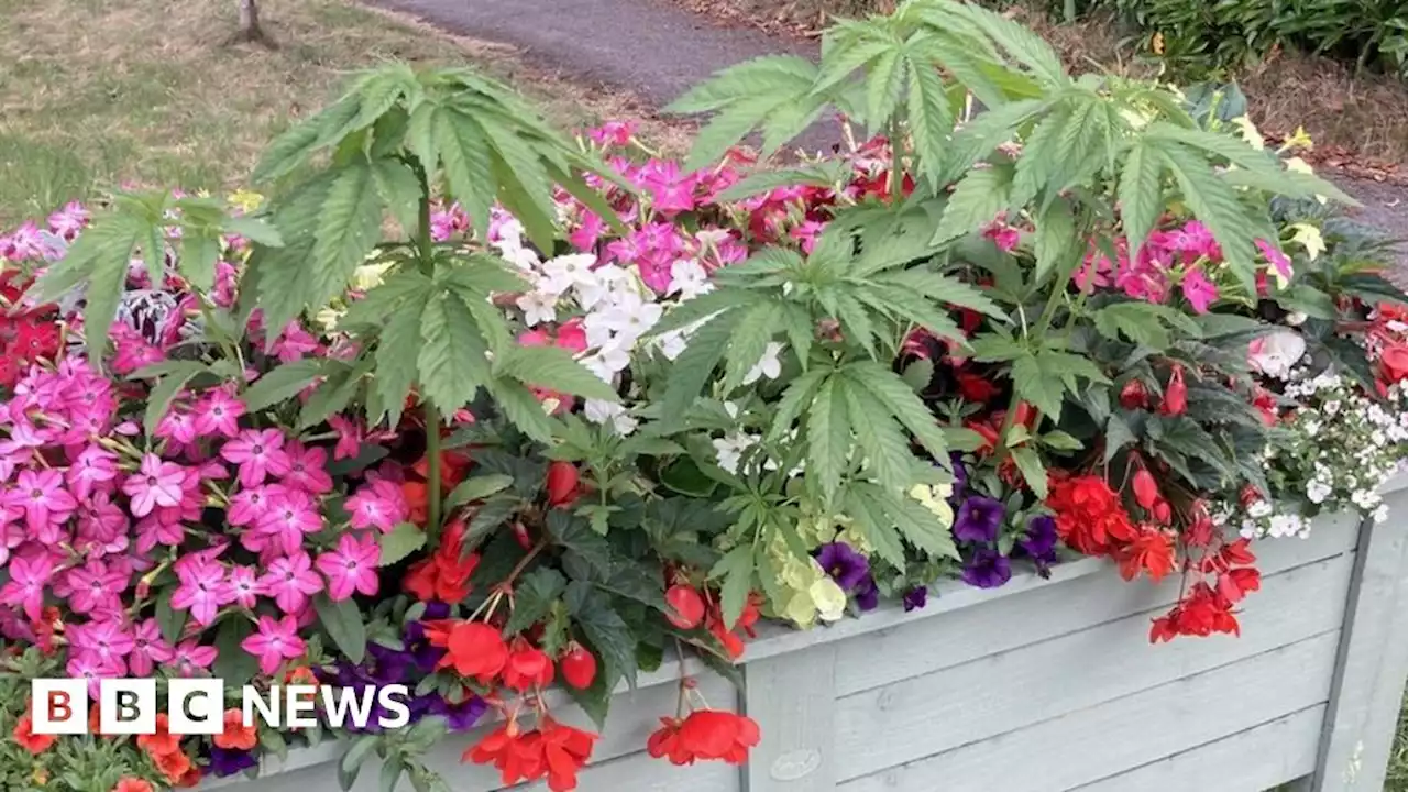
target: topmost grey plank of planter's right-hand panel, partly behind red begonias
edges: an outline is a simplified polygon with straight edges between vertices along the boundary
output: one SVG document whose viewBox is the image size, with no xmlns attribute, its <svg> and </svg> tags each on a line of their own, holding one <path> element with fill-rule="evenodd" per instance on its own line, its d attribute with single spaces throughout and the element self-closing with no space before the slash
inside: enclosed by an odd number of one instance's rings
<svg viewBox="0 0 1408 792">
<path fill-rule="evenodd" d="M 1271 576 L 1332 558 L 1353 547 L 1356 533 L 1347 520 L 1326 520 L 1316 524 L 1309 538 L 1257 544 L 1257 567 Z M 1133 613 L 1167 609 L 1177 602 L 1178 588 L 1176 578 L 1150 585 L 1129 583 L 1112 572 L 1087 575 L 1062 586 L 1024 590 L 979 607 L 955 610 L 941 619 L 880 630 L 865 641 L 843 641 L 836 654 L 836 695 L 849 696 Z M 1002 629 L 994 630 L 994 624 Z M 955 641 L 953 636 L 963 636 L 963 640 Z"/>
</svg>

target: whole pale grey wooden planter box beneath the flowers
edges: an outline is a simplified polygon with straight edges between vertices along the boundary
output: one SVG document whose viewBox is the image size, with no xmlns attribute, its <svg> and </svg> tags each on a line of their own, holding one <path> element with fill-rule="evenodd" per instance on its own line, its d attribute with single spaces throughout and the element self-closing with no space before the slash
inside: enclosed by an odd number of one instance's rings
<svg viewBox="0 0 1408 792">
<path fill-rule="evenodd" d="M 700 674 L 711 706 L 762 726 L 743 768 L 645 754 L 674 712 L 679 667 L 666 664 L 618 695 L 580 789 L 1378 792 L 1408 676 L 1405 488 L 1385 488 L 1383 526 L 1328 517 L 1307 540 L 1256 543 L 1264 578 L 1240 637 L 1149 645 L 1178 582 L 1126 583 L 1097 559 L 995 590 L 942 586 L 914 613 L 772 627 L 749 644 L 745 691 Z M 560 716 L 587 724 L 572 707 Z M 456 792 L 498 788 L 494 771 L 459 764 L 473 737 L 432 757 Z M 298 751 L 218 786 L 335 792 L 337 754 Z M 356 791 L 376 775 L 363 768 Z"/>
</svg>

